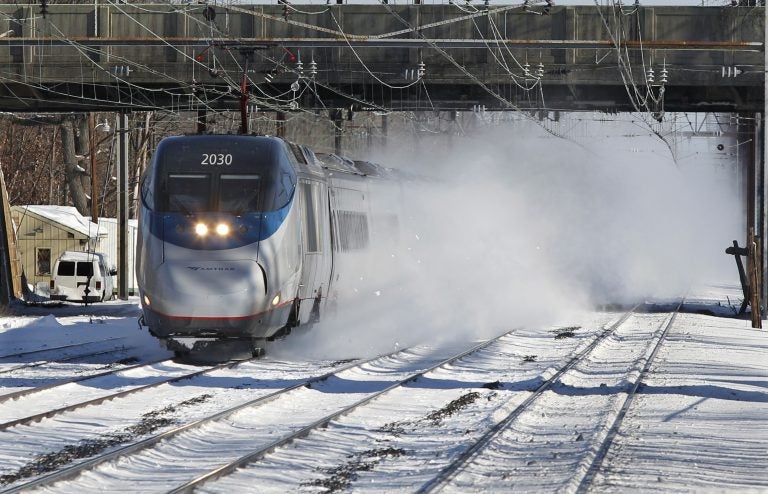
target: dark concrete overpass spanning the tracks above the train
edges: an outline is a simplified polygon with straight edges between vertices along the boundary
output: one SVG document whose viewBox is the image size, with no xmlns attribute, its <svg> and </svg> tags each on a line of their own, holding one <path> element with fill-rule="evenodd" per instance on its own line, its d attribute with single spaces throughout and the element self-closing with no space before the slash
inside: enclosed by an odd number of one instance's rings
<svg viewBox="0 0 768 494">
<path fill-rule="evenodd" d="M 0 109 L 763 110 L 763 8 L 461 3 L 0 5 Z"/>
</svg>

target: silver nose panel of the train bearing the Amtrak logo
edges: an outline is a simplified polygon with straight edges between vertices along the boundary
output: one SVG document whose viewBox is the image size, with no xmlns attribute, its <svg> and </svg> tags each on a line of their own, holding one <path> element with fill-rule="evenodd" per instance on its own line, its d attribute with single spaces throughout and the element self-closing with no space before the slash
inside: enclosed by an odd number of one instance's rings
<svg viewBox="0 0 768 494">
<path fill-rule="evenodd" d="M 155 273 L 163 283 L 160 301 L 191 309 L 197 317 L 222 317 L 253 314 L 266 305 L 264 271 L 256 261 L 166 261 Z M 166 313 L 173 307 L 160 308 Z"/>
</svg>

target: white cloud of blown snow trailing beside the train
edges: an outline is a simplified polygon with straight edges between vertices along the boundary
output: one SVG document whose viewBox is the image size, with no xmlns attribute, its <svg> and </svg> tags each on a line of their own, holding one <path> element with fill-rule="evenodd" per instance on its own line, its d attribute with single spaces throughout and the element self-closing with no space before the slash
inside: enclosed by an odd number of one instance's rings
<svg viewBox="0 0 768 494">
<path fill-rule="evenodd" d="M 712 221 L 711 206 L 702 221 L 712 191 L 692 190 L 656 141 L 633 141 L 654 153 L 590 149 L 516 123 L 385 150 L 376 161 L 424 177 L 390 199 L 403 207 L 398 245 L 360 260 L 338 311 L 278 354 L 363 356 L 681 294 L 702 264 L 725 258 L 717 226 L 727 222 Z"/>
</svg>

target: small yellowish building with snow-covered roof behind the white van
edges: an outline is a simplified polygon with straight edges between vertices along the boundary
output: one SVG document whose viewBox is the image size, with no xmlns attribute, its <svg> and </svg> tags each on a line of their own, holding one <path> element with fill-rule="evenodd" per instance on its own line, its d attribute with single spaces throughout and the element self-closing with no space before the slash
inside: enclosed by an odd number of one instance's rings
<svg viewBox="0 0 768 494">
<path fill-rule="evenodd" d="M 100 227 L 72 206 L 12 206 L 11 218 L 27 284 L 48 286 L 51 270 L 62 252 L 101 251 L 107 237 Z"/>
</svg>

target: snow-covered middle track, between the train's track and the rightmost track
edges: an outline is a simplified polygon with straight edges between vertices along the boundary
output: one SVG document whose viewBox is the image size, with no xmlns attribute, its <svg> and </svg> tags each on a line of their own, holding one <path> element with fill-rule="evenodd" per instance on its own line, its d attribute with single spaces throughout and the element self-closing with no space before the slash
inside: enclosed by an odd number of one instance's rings
<svg viewBox="0 0 768 494">
<path fill-rule="evenodd" d="M 143 491 L 189 491 L 203 482 L 225 475 L 240 464 L 255 461 L 269 451 L 322 428 L 328 422 L 418 379 L 426 372 L 478 352 L 492 345 L 498 338 L 470 349 L 463 349 L 448 357 L 435 357 L 431 353 L 434 350 L 431 349 L 427 353 L 403 349 L 366 361 L 351 362 L 331 372 L 311 377 L 3 492 L 21 492 L 42 486 L 47 490 L 88 490 L 92 486 L 87 483 L 83 485 L 82 482 L 101 477 L 100 470 L 111 470 L 111 465 L 117 459 L 121 460 L 121 465 L 128 461 L 137 466 L 138 470 L 125 472 L 128 477 L 139 475 L 143 479 L 154 479 L 152 485 L 142 482 Z M 326 399 L 318 399 L 316 390 L 325 395 Z M 286 404 L 295 417 L 286 417 Z M 276 430 L 263 430 L 265 424 L 269 429 L 269 424 L 276 422 L 276 416 L 282 419 Z M 262 430 L 259 430 L 259 427 Z M 194 444 L 191 456 L 190 443 Z M 152 466 L 149 467 L 149 472 L 142 472 L 141 465 L 149 465 L 144 463 L 147 458 L 151 458 Z M 222 462 L 222 458 L 227 458 L 227 461 Z M 167 468 L 164 468 L 164 464 Z M 211 465 L 215 465 L 215 468 L 211 469 Z M 88 472 L 87 476 L 81 475 L 85 472 Z M 158 475 L 158 472 L 167 472 L 172 478 Z M 105 487 L 101 484 L 102 480 L 99 480 L 99 488 L 134 488 L 130 480 L 121 484 L 119 478 L 111 474 L 107 477 L 107 482 L 112 483 L 112 486 Z M 87 480 L 83 480 L 86 478 Z"/>
</svg>

